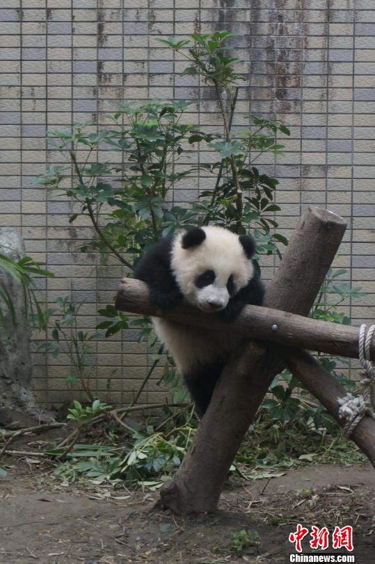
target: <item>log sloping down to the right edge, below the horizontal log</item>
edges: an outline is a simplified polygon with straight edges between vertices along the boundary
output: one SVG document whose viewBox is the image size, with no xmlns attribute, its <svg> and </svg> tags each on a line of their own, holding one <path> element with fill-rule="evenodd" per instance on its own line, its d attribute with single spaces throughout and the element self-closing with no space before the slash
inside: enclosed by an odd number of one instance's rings
<svg viewBox="0 0 375 564">
<path fill-rule="evenodd" d="M 345 422 L 339 417 L 340 406 L 337 403 L 337 398 L 346 395 L 344 386 L 337 382 L 333 376 L 330 376 L 319 361 L 306 351 L 278 347 L 278 352 L 292 374 L 305 385 L 309 392 L 319 399 L 328 413 L 333 415 L 337 423 L 343 427 Z M 350 438 L 360 447 L 375 467 L 375 421 L 372 417 L 368 415 L 363 417 L 351 433 Z"/>
</svg>

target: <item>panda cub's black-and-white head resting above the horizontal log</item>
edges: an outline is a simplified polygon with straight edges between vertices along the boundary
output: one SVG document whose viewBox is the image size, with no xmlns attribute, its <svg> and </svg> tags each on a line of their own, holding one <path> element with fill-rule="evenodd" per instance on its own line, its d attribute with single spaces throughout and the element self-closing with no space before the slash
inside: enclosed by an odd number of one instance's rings
<svg viewBox="0 0 375 564">
<path fill-rule="evenodd" d="M 225 309 L 232 296 L 253 278 L 253 239 L 223 227 L 193 227 L 173 241 L 171 267 L 184 297 L 214 312 Z"/>
</svg>

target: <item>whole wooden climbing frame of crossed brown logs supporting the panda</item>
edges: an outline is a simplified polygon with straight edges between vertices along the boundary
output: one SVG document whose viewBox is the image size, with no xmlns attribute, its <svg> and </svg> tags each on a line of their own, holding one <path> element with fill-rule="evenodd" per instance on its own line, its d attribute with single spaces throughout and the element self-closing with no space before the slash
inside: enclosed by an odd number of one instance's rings
<svg viewBox="0 0 375 564">
<path fill-rule="evenodd" d="M 337 400 L 346 395 L 346 390 L 303 349 L 358 358 L 358 328 L 306 317 L 345 229 L 342 217 L 309 207 L 266 288 L 264 307 L 247 306 L 237 320 L 227 324 L 228 330 L 248 336 L 249 341 L 229 359 L 175 479 L 161 488 L 163 505 L 175 513 L 216 509 L 223 482 L 248 426 L 274 376 L 285 367 L 344 425 Z M 181 320 L 212 330 L 222 323 L 187 304 L 168 312 L 156 308 L 150 303 L 147 286 L 138 280 L 121 281 L 115 306 L 129 313 Z M 374 360 L 374 342 L 370 354 Z M 365 415 L 351 439 L 375 467 L 374 419 Z"/>
</svg>

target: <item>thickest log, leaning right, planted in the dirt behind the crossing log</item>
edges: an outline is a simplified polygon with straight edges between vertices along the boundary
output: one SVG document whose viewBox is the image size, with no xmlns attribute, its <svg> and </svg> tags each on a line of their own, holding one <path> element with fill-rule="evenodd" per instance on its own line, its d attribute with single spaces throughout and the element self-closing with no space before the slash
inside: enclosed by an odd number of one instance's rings
<svg viewBox="0 0 375 564">
<path fill-rule="evenodd" d="M 264 305 L 308 315 L 345 227 L 341 217 L 308 208 L 266 290 Z M 241 440 L 282 367 L 276 345 L 253 345 L 232 356 L 175 480 L 161 489 L 164 506 L 185 514 L 216 510 Z"/>
</svg>

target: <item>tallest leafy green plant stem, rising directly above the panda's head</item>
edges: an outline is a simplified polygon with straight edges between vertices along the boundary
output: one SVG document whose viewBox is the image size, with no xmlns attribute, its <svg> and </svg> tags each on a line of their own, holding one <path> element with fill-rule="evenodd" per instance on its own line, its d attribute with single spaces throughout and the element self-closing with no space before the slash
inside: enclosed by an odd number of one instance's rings
<svg viewBox="0 0 375 564">
<path fill-rule="evenodd" d="M 237 72 L 240 60 L 230 55 L 230 48 L 225 44 L 234 35 L 228 31 L 193 33 L 189 40 L 168 38 L 161 42 L 182 54 L 192 65 L 183 74 L 199 74 L 207 85 L 214 88 L 223 118 L 224 135 L 220 140 L 207 143 L 220 157 L 216 163 L 205 165 L 209 172 L 216 175 L 216 184 L 213 190 L 201 194 L 202 198 L 208 197 L 208 200 L 196 206 L 197 213 L 205 211 L 205 224 L 214 222 L 237 233 L 245 233 L 249 226 L 255 228 L 256 240 L 267 236 L 258 250 L 272 254 L 278 252 L 277 242 L 287 243 L 282 236 L 273 237 L 271 229 L 277 228 L 278 224 L 268 215 L 280 210 L 273 203 L 273 192 L 278 181 L 260 174 L 253 163 L 263 154 L 280 154 L 284 146 L 276 141 L 276 137 L 280 133 L 290 135 L 290 132 L 278 120 L 250 114 L 247 116 L 250 128 L 234 135 L 232 122 L 238 88 L 239 83 L 245 80 Z"/>
</svg>

